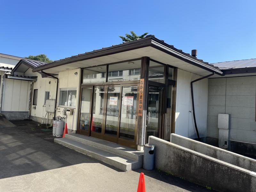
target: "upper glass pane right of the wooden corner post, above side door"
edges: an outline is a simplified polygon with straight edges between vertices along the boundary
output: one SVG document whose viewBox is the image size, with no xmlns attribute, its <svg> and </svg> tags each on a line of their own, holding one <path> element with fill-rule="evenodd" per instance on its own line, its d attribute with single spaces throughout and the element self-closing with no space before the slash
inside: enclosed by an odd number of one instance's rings
<svg viewBox="0 0 256 192">
<path fill-rule="evenodd" d="M 148 80 L 164 83 L 164 65 L 149 61 Z"/>
</svg>

